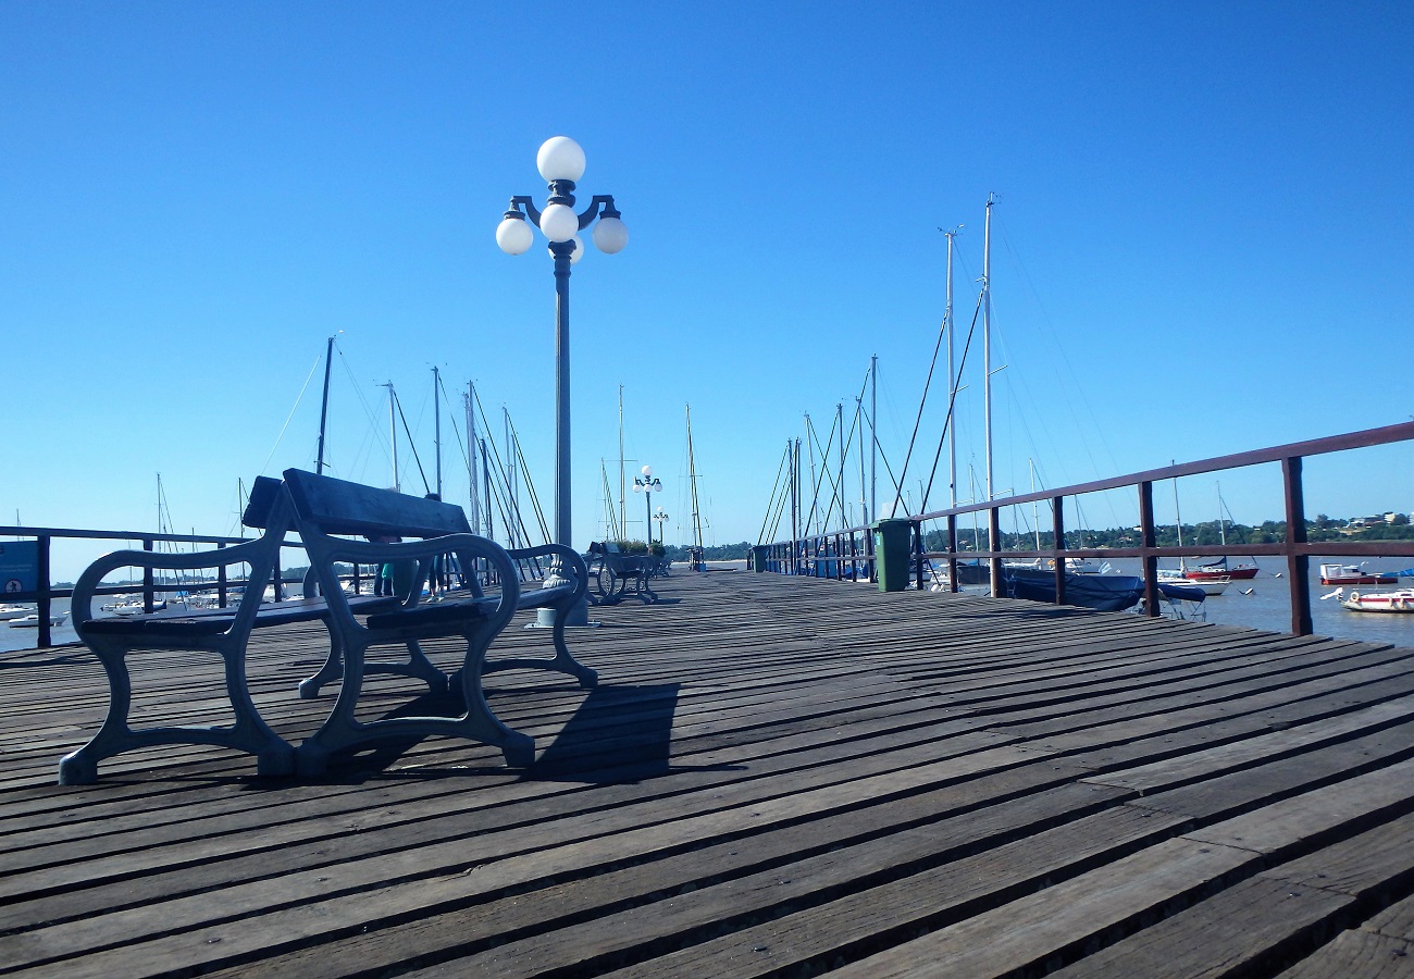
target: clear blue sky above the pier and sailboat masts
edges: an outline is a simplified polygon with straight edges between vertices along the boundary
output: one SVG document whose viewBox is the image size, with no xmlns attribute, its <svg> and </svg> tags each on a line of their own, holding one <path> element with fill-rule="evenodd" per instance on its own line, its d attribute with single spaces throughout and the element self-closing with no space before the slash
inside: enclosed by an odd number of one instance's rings
<svg viewBox="0 0 1414 979">
<path fill-rule="evenodd" d="M 387 381 L 430 470 L 437 365 L 458 412 L 467 381 L 509 409 L 549 505 L 551 263 L 493 231 L 543 202 L 553 134 L 631 235 L 571 284 L 581 546 L 619 385 L 669 542 L 684 405 L 708 542 L 756 539 L 786 440 L 853 415 L 871 354 L 898 468 L 939 228 L 966 225 L 966 330 L 990 192 L 998 491 L 1408 420 L 1411 50 L 1408 3 L 0 4 L 0 523 L 156 529 L 160 473 L 175 526 L 230 532 L 238 480 L 312 467 L 337 331 L 335 474 L 392 482 Z M 1407 448 L 1309 471 L 1312 514 L 1414 509 Z M 1222 490 L 1280 516 L 1271 474 Z"/>
</svg>

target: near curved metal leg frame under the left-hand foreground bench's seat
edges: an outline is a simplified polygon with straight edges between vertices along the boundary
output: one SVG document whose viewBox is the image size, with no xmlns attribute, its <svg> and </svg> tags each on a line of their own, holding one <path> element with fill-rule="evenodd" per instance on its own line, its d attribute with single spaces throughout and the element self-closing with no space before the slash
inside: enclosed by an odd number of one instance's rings
<svg viewBox="0 0 1414 979">
<path fill-rule="evenodd" d="M 59 760 L 59 785 L 90 785 L 98 781 L 98 763 L 130 748 L 158 744 L 212 744 L 256 755 L 260 775 L 288 775 L 294 771 L 294 748 L 260 717 L 246 686 L 243 649 L 214 651 L 225 664 L 226 693 L 236 723 L 226 726 L 144 727 L 129 726 L 133 688 L 127 672 L 127 648 L 90 641 L 89 648 L 107 673 L 109 709 L 103 724 L 88 744 Z"/>
</svg>

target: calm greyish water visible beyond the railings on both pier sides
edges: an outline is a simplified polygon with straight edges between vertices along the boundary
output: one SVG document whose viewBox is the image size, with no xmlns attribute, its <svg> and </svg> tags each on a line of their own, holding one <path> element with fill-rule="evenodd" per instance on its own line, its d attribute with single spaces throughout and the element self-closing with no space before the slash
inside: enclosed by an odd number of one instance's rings
<svg viewBox="0 0 1414 979">
<path fill-rule="evenodd" d="M 1138 572 L 1138 560 L 1117 559 L 1111 563 L 1123 574 Z M 1349 639 L 1363 639 L 1366 642 L 1389 642 L 1414 648 L 1414 614 L 1380 615 L 1353 613 L 1342 608 L 1333 598 L 1319 601 L 1319 596 L 1333 591 L 1333 589 L 1321 584 L 1318 563 L 1315 559 L 1311 562 L 1311 618 L 1318 635 L 1336 635 Z M 1246 625 L 1273 632 L 1290 631 L 1291 593 L 1285 579 L 1287 564 L 1277 557 L 1258 559 L 1257 564 L 1261 569 L 1257 577 L 1251 581 L 1233 581 L 1222 596 L 1212 597 L 1202 604 L 1198 613 L 1199 617 L 1206 613 L 1206 621 L 1209 622 Z M 1370 567 L 1379 569 L 1408 567 L 1410 564 L 1414 564 L 1414 560 L 1398 557 L 1370 562 Z M 725 566 L 727 563 L 724 563 Z M 1277 577 L 1277 574 L 1282 577 Z M 1243 594 L 1249 589 L 1251 594 Z M 59 598 L 54 603 L 55 611 L 68 611 L 68 598 Z M 37 632 L 38 630 L 10 628 L 7 624 L 0 622 L 0 652 L 33 649 Z M 65 620 L 64 625 L 54 628 L 54 642 L 78 642 L 78 635 L 68 624 L 68 620 Z"/>
</svg>

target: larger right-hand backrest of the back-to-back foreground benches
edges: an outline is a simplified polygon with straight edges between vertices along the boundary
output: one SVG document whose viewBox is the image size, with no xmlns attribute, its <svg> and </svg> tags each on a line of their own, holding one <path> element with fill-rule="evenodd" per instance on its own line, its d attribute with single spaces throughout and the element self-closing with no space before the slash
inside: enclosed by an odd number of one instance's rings
<svg viewBox="0 0 1414 979">
<path fill-rule="evenodd" d="M 300 521 L 314 523 L 324 533 L 363 536 L 396 533 L 402 538 L 471 533 L 467 514 L 455 504 L 365 487 L 304 470 L 286 470 L 284 484 L 290 490 L 290 499 Z"/>
</svg>

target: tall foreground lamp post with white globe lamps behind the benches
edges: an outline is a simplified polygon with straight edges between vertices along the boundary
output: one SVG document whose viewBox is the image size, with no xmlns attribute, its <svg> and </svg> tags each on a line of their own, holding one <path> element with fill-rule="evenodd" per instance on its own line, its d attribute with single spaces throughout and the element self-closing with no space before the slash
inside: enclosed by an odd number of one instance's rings
<svg viewBox="0 0 1414 979">
<path fill-rule="evenodd" d="M 594 225 L 594 245 L 614 255 L 628 243 L 628 229 L 619 219 L 614 198 L 595 194 L 581 214 L 574 211 L 574 181 L 584 175 L 584 150 L 568 136 L 551 136 L 536 154 L 536 167 L 550 184 L 550 197 L 537 211 L 529 197 L 512 197 L 496 228 L 496 245 L 508 255 L 523 255 L 534 242 L 534 224 L 550 241 L 554 257 L 554 543 L 573 546 L 570 528 L 570 266 L 584 256 L 578 232 Z M 525 208 L 525 211 L 522 211 Z M 526 221 L 529 215 L 530 221 Z M 595 224 L 598 218 L 598 224 Z M 546 586 L 563 581 L 551 564 Z M 553 615 L 553 610 L 542 610 Z M 588 621 L 587 607 L 568 624 Z M 543 622 L 542 622 L 543 624 Z"/>
</svg>

